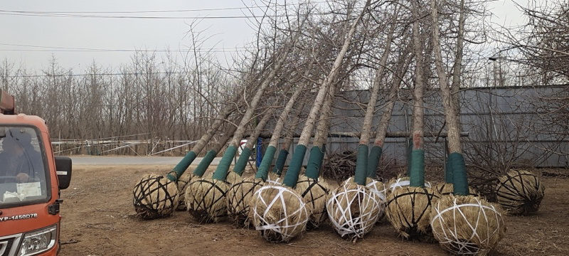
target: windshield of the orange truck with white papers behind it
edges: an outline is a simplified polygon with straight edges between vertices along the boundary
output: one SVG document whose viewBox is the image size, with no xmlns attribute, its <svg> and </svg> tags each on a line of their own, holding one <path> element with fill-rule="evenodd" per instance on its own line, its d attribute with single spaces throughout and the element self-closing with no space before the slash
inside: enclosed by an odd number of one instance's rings
<svg viewBox="0 0 569 256">
<path fill-rule="evenodd" d="M 42 148 L 35 129 L 0 126 L 0 208 L 48 198 Z"/>
</svg>

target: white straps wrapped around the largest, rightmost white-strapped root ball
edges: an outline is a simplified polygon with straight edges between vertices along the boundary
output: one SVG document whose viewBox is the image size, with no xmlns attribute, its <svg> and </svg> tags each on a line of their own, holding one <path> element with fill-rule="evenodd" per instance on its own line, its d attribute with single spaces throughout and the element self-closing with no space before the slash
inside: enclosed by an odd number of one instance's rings
<svg viewBox="0 0 569 256">
<path fill-rule="evenodd" d="M 478 255 L 479 253 L 485 252 L 490 249 L 489 246 L 484 246 L 489 244 L 490 238 L 492 238 L 494 235 L 499 235 L 498 233 L 499 230 L 501 229 L 500 221 L 497 221 L 498 223 L 497 227 L 486 226 L 486 234 L 480 234 L 480 235 L 478 234 L 479 226 L 484 225 L 484 223 L 488 225 L 489 223 L 488 222 L 489 217 L 486 212 L 494 214 L 494 218 L 501 218 L 501 214 L 499 213 L 498 210 L 496 210 L 496 208 L 494 208 L 494 206 L 483 205 L 481 201 L 478 200 L 478 198 L 475 198 L 475 200 L 477 201 L 477 203 L 457 204 L 457 198 L 454 198 L 453 206 L 445 208 L 443 210 L 440 210 L 440 203 L 437 203 L 435 205 L 435 211 L 437 212 L 437 215 L 432 217 L 431 226 L 434 226 L 433 224 L 438 221 L 440 227 L 442 228 L 441 230 L 433 228 L 432 232 L 436 233 L 435 235 L 437 235 L 437 239 L 441 244 L 447 245 L 445 247 L 447 247 L 449 250 L 454 249 L 453 251 L 454 253 L 458 253 L 461 255 Z M 464 230 L 465 227 L 464 226 L 457 227 L 456 224 L 457 213 L 459 214 L 458 216 L 459 218 L 463 218 L 464 220 L 469 220 L 469 218 L 467 218 L 467 216 L 464 214 L 463 209 L 471 207 L 476 207 L 480 209 L 478 211 L 475 223 L 466 221 L 468 228 L 472 232 L 472 235 L 470 235 L 469 238 L 459 238 L 458 229 Z M 452 225 L 452 230 L 447 230 L 447 228 L 445 228 L 447 226 L 445 225 L 445 223 L 448 223 L 448 221 L 442 218 L 442 214 L 447 213 L 450 210 L 452 210 L 452 218 L 454 220 L 452 220 L 453 222 L 450 223 Z M 440 231 L 442 231 L 442 233 L 440 233 Z M 472 240 L 474 240 L 474 238 L 479 240 L 479 242 L 477 243 L 471 242 Z"/>
</svg>

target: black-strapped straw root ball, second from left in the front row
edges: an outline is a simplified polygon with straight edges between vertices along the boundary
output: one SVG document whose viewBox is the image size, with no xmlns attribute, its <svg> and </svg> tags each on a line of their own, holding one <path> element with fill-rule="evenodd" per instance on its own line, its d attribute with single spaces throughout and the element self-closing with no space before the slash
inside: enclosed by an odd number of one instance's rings
<svg viewBox="0 0 569 256">
<path fill-rule="evenodd" d="M 200 223 L 219 222 L 227 215 L 225 193 L 229 184 L 213 178 L 200 178 L 186 188 L 188 211 Z"/>
</svg>

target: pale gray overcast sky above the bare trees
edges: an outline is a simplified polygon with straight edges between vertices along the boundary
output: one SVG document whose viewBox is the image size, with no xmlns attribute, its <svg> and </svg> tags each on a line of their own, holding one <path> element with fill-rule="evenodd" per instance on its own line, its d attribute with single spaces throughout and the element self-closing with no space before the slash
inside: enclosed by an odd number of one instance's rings
<svg viewBox="0 0 569 256">
<path fill-rule="evenodd" d="M 516 0 L 522 6 L 526 1 Z M 257 1 L 257 4 L 261 2 Z M 52 54 L 60 66 L 73 68 L 75 73 L 83 72 L 93 60 L 104 67 L 117 68 L 129 63 L 133 54 L 119 50 L 189 48 L 191 43 L 186 32 L 188 23 L 196 21 L 193 17 L 208 17 L 197 27 L 198 31 L 203 31 L 202 38 L 208 38 L 203 48 L 215 48 L 229 54 L 242 50 L 245 43 L 252 40 L 251 22 L 247 18 L 238 18 L 250 15 L 243 9 L 245 5 L 253 6 L 255 1 L 3 0 L 0 1 L 0 24 L 3 25 L 0 57 L 16 65 L 25 65 L 28 70 L 47 68 Z M 489 8 L 495 15 L 493 22 L 509 26 L 522 21 L 511 0 L 494 1 Z"/>
</svg>

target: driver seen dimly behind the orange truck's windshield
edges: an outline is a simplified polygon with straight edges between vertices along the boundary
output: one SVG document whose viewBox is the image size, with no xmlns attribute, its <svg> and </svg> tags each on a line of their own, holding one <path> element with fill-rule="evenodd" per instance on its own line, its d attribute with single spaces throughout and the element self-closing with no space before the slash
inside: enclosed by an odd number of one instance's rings
<svg viewBox="0 0 569 256">
<path fill-rule="evenodd" d="M 8 129 L 1 138 L 0 176 L 15 177 L 18 183 L 28 182 L 43 171 L 41 154 L 33 149 L 31 135 L 23 129 Z"/>
</svg>

